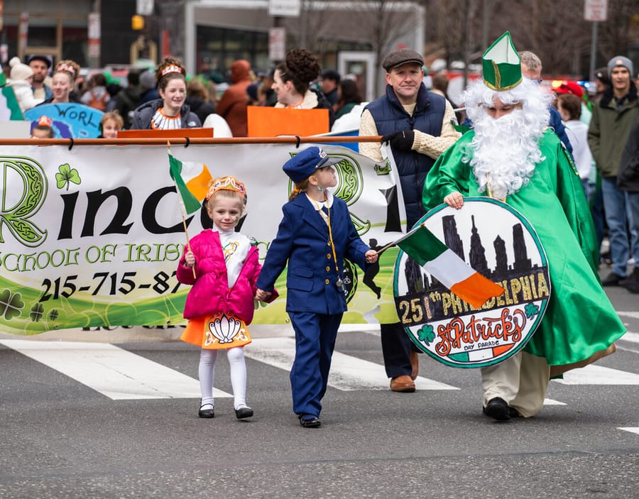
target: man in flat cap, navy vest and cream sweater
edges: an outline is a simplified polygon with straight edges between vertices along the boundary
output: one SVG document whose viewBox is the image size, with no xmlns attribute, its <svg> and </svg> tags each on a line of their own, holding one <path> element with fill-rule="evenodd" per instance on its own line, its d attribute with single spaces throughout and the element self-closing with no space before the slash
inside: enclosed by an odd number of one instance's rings
<svg viewBox="0 0 639 499">
<path fill-rule="evenodd" d="M 455 115 L 450 103 L 427 91 L 423 65 L 423 57 L 415 50 L 395 50 L 388 55 L 382 63 L 386 94 L 366 106 L 359 126 L 360 136 L 381 135 L 382 142 L 391 145 L 409 229 L 426 213 L 421 200 L 427 172 L 460 136 L 453 126 Z M 380 143 L 361 142 L 359 151 L 373 160 L 383 160 Z M 380 316 L 386 375 L 394 392 L 414 392 L 419 369 L 417 349 L 396 322 L 394 304 L 386 305 L 389 307 L 382 307 Z"/>
</svg>

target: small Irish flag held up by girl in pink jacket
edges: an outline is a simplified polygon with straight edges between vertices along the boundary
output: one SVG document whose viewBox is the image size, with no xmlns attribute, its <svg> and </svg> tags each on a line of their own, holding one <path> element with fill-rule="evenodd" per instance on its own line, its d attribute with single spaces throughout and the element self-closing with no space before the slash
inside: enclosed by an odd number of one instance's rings
<svg viewBox="0 0 639 499">
<path fill-rule="evenodd" d="M 192 214 L 202 208 L 209 182 L 212 180 L 207 165 L 194 161 L 180 161 L 173 158 L 169 150 L 169 173 L 178 188 L 182 214 Z"/>
</svg>

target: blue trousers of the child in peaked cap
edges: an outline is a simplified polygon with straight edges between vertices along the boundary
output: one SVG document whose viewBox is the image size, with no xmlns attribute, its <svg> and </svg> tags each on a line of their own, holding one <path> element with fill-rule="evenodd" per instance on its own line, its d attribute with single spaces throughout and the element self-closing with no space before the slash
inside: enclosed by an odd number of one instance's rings
<svg viewBox="0 0 639 499">
<path fill-rule="evenodd" d="M 295 361 L 290 370 L 293 411 L 319 417 L 342 314 L 289 312 L 295 330 Z"/>
</svg>

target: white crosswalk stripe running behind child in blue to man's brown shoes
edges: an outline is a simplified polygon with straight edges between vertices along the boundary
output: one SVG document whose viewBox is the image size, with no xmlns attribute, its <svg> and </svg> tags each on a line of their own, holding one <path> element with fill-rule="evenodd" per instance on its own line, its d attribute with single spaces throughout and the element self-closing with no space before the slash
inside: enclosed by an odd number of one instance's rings
<svg viewBox="0 0 639 499">
<path fill-rule="evenodd" d="M 295 358 L 295 339 L 260 338 L 246 346 L 244 355 L 256 361 L 290 371 Z M 334 352 L 328 384 L 337 390 L 388 390 L 383 366 L 361 358 Z M 459 390 L 459 388 L 417 376 L 417 390 Z"/>
</svg>

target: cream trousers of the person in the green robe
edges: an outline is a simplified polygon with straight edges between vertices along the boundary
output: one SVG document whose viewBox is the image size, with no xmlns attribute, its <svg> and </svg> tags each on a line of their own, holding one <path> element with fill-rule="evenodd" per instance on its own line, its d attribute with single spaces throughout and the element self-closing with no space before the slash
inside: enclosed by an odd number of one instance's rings
<svg viewBox="0 0 639 499">
<path fill-rule="evenodd" d="M 523 417 L 542 410 L 550 380 L 546 359 L 519 351 L 495 366 L 481 368 L 484 407 L 494 397 L 506 400 Z"/>
</svg>

